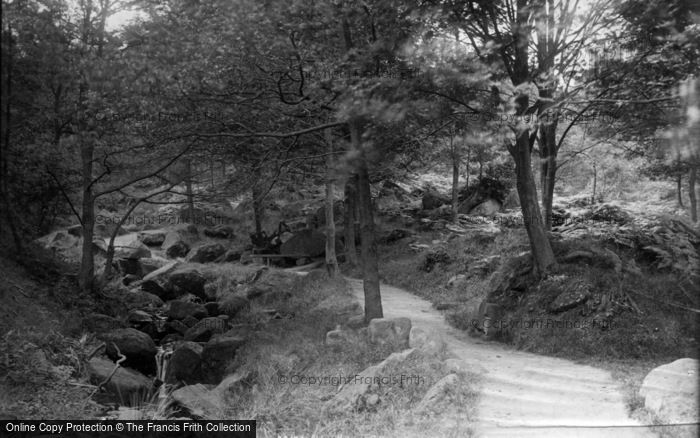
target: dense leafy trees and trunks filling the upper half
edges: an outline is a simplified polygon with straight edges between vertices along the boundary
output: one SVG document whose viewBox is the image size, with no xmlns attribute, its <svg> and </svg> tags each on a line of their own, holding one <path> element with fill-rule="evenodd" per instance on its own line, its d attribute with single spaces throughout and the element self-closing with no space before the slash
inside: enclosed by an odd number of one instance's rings
<svg viewBox="0 0 700 438">
<path fill-rule="evenodd" d="M 479 176 L 484 166 L 515 175 L 544 273 L 557 187 L 592 184 L 597 200 L 628 182 L 625 171 L 671 180 L 697 220 L 692 8 L 5 2 L 3 223 L 21 252 L 72 213 L 90 289 L 95 212 L 120 202 L 186 191 L 193 206 L 248 190 L 261 232 L 274 185 L 329 169 L 336 184 L 356 175 L 372 240 L 370 184 L 442 160 L 457 192 L 476 162 Z M 136 20 L 110 27 L 124 10 Z M 193 191 L 217 173 L 206 195 Z M 376 250 L 364 251 L 375 278 Z"/>
</svg>

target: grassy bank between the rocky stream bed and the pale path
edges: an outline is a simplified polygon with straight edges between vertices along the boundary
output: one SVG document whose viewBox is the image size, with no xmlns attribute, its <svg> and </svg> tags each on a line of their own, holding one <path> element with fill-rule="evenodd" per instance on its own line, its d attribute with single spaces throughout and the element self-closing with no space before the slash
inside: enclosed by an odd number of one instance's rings
<svg viewBox="0 0 700 438">
<path fill-rule="evenodd" d="M 343 345 L 326 345 L 326 332 L 345 324 L 357 311 L 344 280 L 313 272 L 300 279 L 289 298 L 265 307 L 293 317 L 270 321 L 239 352 L 233 368 L 246 369 L 252 377 L 243 390 L 229 395 L 231 418 L 256 419 L 260 436 L 418 436 L 425 430 L 439 436 L 469 436 L 476 400 L 473 376 L 461 377 L 439 415 L 415 410 L 428 389 L 448 374 L 438 357 L 422 357 L 391 369 L 392 375 L 420 376 L 420 380 L 381 385 L 379 402 L 372 407 L 333 415 L 324 411 L 343 379 L 352 379 L 395 350 L 369 344 L 357 333 Z M 255 314 L 262 310 L 253 305 L 234 323 L 259 321 Z M 309 383 L 324 377 L 325 383 Z"/>
</svg>

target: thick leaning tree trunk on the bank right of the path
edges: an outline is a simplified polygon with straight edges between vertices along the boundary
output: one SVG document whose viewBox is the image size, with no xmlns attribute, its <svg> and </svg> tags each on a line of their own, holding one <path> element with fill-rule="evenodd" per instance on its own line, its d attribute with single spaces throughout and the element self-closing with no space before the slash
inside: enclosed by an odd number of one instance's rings
<svg viewBox="0 0 700 438">
<path fill-rule="evenodd" d="M 531 167 L 530 140 L 527 134 L 528 131 L 525 130 L 518 136 L 513 158 L 515 158 L 520 208 L 532 248 L 535 269 L 538 275 L 544 276 L 556 262 L 537 202 L 537 188 Z"/>
</svg>

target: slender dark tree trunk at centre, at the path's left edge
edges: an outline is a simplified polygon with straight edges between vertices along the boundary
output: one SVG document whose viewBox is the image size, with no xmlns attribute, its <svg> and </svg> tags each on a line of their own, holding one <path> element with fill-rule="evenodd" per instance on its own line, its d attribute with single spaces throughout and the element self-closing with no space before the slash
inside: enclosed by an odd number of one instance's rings
<svg viewBox="0 0 700 438">
<path fill-rule="evenodd" d="M 379 290 L 379 265 L 377 242 L 374 239 L 374 215 L 372 194 L 369 187 L 367 158 L 360 144 L 360 130 L 356 122 L 350 122 L 350 137 L 353 148 L 360 152 L 358 159 L 358 204 L 360 209 L 360 235 L 362 253 L 362 279 L 365 292 L 365 321 L 382 318 L 382 297 Z"/>
</svg>

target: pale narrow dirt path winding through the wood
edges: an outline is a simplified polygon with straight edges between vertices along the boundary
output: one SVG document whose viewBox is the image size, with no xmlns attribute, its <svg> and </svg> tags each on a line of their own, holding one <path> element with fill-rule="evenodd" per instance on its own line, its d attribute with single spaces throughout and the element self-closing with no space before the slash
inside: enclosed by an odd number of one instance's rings
<svg viewBox="0 0 700 438">
<path fill-rule="evenodd" d="M 349 281 L 364 303 L 362 281 Z M 609 372 L 470 338 L 449 326 L 428 301 L 387 285 L 381 292 L 385 317 L 408 317 L 414 327 L 442 335 L 455 356 L 482 374 L 476 436 L 656 436 L 629 418 Z"/>
</svg>

